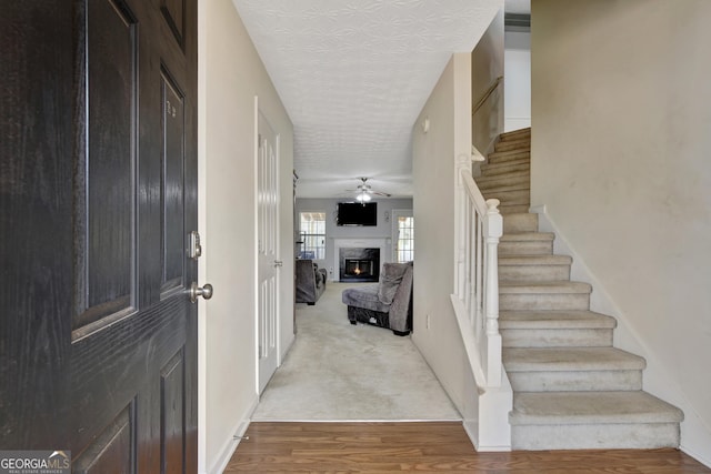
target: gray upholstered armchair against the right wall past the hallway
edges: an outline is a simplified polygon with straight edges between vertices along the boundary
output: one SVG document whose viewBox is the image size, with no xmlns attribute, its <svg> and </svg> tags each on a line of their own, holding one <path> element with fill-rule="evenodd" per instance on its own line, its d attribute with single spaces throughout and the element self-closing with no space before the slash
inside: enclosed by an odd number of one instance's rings
<svg viewBox="0 0 711 474">
<path fill-rule="evenodd" d="M 408 335 L 412 330 L 412 262 L 385 263 L 377 284 L 343 290 L 351 324 L 368 323 Z"/>
</svg>

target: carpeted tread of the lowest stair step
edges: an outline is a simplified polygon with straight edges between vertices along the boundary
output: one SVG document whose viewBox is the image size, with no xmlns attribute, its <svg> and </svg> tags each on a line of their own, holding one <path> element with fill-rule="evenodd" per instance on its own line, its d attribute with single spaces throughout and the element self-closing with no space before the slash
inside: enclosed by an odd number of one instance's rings
<svg viewBox="0 0 711 474">
<path fill-rule="evenodd" d="M 519 392 L 509 414 L 512 425 L 593 423 L 680 423 L 681 410 L 642 391 Z"/>
</svg>

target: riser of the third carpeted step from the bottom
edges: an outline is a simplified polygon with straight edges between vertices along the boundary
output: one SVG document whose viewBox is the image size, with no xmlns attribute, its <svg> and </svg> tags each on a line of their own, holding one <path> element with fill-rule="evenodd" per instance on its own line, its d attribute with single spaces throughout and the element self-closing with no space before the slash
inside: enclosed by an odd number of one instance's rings
<svg viewBox="0 0 711 474">
<path fill-rule="evenodd" d="M 609 329 L 501 330 L 504 347 L 608 347 L 612 345 Z"/>
</svg>

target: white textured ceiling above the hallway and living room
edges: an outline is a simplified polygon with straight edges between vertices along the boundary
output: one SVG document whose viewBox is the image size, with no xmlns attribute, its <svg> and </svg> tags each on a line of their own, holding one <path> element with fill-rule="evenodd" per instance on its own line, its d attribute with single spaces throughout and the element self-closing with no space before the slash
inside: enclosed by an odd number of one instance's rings
<svg viewBox="0 0 711 474">
<path fill-rule="evenodd" d="M 411 129 L 502 0 L 233 0 L 294 125 L 300 198 L 412 195 Z M 509 0 L 511 1 L 511 0 Z M 517 1 L 515 3 L 520 3 Z"/>
</svg>

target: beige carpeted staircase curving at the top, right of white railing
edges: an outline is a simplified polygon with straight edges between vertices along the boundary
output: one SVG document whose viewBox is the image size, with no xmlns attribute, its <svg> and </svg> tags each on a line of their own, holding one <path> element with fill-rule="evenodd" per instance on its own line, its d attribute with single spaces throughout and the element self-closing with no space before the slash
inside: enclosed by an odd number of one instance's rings
<svg viewBox="0 0 711 474">
<path fill-rule="evenodd" d="M 513 389 L 514 450 L 678 447 L 683 413 L 642 391 L 644 359 L 612 346 L 572 259 L 553 254 L 530 206 L 530 129 L 501 137 L 475 181 L 501 201 L 499 327 Z"/>
</svg>

